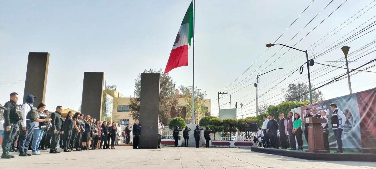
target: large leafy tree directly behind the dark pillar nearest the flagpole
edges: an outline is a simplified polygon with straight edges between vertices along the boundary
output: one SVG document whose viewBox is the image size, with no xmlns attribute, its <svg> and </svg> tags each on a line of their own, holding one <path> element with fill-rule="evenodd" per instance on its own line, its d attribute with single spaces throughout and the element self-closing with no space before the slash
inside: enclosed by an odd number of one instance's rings
<svg viewBox="0 0 376 169">
<path fill-rule="evenodd" d="M 175 83 L 168 73 L 164 75 L 162 69 L 159 70 L 144 70 L 143 73 L 159 73 L 159 119 L 165 123 L 170 122 L 170 110 L 172 106 L 177 106 L 178 100 L 175 96 Z M 135 79 L 135 97 L 131 97 L 129 101 L 129 108 L 132 111 L 132 118 L 139 118 L 139 102 L 141 92 L 141 73 Z"/>
</svg>

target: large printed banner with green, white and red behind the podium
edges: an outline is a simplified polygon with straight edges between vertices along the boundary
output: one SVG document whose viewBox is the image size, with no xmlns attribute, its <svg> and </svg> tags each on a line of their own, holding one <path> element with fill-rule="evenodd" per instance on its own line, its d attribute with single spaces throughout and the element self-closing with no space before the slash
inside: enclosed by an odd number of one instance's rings
<svg viewBox="0 0 376 169">
<path fill-rule="evenodd" d="M 337 148 L 334 132 L 331 124 L 332 110 L 330 104 L 336 103 L 338 109 L 343 111 L 346 122 L 342 132 L 343 148 L 350 148 L 354 151 L 374 152 L 376 151 L 376 88 L 324 100 L 322 102 L 294 108 L 291 111 L 306 115 L 305 110 L 317 108 L 318 113 L 322 110 L 328 112 L 329 119 L 329 146 Z M 302 124 L 304 131 L 305 127 Z M 303 145 L 308 146 L 305 134 L 303 134 Z"/>
</svg>

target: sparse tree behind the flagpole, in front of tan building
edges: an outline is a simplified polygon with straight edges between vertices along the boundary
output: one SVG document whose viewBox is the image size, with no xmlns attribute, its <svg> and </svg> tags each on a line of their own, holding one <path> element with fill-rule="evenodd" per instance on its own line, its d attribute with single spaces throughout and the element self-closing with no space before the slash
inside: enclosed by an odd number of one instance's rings
<svg viewBox="0 0 376 169">
<path fill-rule="evenodd" d="M 179 89 L 181 91 L 180 96 L 184 98 L 185 104 L 184 106 L 187 108 L 187 114 L 185 119 L 188 122 L 192 121 L 192 86 L 179 86 Z M 203 91 L 199 88 L 194 89 L 194 117 L 195 121 L 199 119 L 200 117 L 205 116 L 205 113 L 208 111 L 208 109 L 203 109 L 202 107 L 205 107 L 205 100 L 204 98 L 206 97 L 206 91 Z M 194 122 L 195 124 L 197 122 Z"/>
</svg>

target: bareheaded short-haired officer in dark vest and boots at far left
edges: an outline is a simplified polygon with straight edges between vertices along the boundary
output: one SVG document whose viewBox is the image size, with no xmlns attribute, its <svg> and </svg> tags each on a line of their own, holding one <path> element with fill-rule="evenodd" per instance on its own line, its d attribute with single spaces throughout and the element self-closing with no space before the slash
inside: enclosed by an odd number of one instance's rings
<svg viewBox="0 0 376 169">
<path fill-rule="evenodd" d="M 9 154 L 9 148 L 12 145 L 19 126 L 18 123 L 22 120 L 21 107 L 17 105 L 18 94 L 9 94 L 10 100 L 4 104 L 6 110 L 4 111 L 4 134 L 3 134 L 3 154 L 1 158 L 14 158 L 14 155 Z"/>
</svg>

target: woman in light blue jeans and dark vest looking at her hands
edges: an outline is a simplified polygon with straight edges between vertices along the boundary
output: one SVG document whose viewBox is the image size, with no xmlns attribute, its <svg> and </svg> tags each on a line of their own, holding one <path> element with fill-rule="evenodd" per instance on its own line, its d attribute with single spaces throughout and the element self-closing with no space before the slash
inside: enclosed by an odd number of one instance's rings
<svg viewBox="0 0 376 169">
<path fill-rule="evenodd" d="M 44 103 L 38 105 L 38 114 L 35 120 L 35 127 L 33 132 L 33 144 L 32 144 L 32 154 L 39 155 L 42 154 L 39 152 L 39 144 L 41 143 L 44 129 L 47 128 L 47 123 L 51 121 L 51 118 L 47 118 L 47 115 L 43 113 L 43 110 L 46 108 Z M 44 148 L 44 147 L 43 147 Z"/>
</svg>

